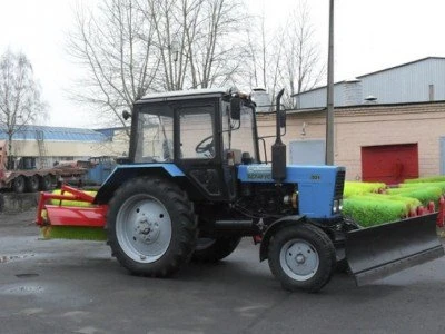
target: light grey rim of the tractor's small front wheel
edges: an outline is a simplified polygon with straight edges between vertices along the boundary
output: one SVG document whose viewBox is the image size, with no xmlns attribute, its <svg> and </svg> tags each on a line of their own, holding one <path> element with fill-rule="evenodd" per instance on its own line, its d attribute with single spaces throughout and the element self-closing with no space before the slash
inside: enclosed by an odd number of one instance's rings
<svg viewBox="0 0 445 334">
<path fill-rule="evenodd" d="M 293 239 L 281 247 L 279 263 L 286 275 L 293 279 L 307 281 L 317 273 L 319 256 L 312 244 Z"/>
</svg>

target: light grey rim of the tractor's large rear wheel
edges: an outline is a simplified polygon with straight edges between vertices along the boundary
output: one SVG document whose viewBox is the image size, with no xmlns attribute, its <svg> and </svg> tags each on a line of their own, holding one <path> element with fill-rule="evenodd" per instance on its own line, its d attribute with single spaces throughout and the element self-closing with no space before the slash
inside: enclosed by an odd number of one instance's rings
<svg viewBox="0 0 445 334">
<path fill-rule="evenodd" d="M 171 240 L 171 219 L 166 207 L 149 195 L 128 198 L 116 218 L 116 234 L 122 250 L 134 261 L 160 258 Z"/>
</svg>

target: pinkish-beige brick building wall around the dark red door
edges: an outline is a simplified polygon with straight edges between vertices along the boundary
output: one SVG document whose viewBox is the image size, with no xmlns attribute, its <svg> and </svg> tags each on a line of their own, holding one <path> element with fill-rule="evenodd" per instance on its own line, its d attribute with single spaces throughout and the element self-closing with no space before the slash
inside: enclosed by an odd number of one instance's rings
<svg viewBox="0 0 445 334">
<path fill-rule="evenodd" d="M 259 134 L 274 135 L 275 119 L 258 117 Z M 324 139 L 325 112 L 287 117 L 286 145 L 293 140 Z M 362 147 L 417 144 L 419 176 L 441 174 L 441 137 L 445 137 L 445 102 L 360 106 L 335 110 L 335 164 L 347 168 L 348 180 L 360 180 Z M 268 157 L 270 145 L 267 143 Z M 289 159 L 289 154 L 288 154 Z"/>
</svg>

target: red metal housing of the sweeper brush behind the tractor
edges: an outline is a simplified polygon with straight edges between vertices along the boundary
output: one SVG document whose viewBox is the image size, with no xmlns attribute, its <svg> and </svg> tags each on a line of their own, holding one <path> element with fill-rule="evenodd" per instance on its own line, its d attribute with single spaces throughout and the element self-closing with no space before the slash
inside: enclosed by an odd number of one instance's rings
<svg viewBox="0 0 445 334">
<path fill-rule="evenodd" d="M 61 194 L 40 193 L 36 224 L 40 227 L 48 225 L 103 227 L 108 206 L 96 205 L 93 200 L 93 196 L 66 185 L 61 187 Z M 79 204 L 72 205 L 73 202 Z"/>
</svg>

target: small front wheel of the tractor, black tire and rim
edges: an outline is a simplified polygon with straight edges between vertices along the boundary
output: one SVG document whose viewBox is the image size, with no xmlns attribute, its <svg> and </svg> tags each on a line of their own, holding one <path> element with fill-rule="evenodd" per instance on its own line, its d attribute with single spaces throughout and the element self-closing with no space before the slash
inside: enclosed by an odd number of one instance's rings
<svg viewBox="0 0 445 334">
<path fill-rule="evenodd" d="M 270 240 L 268 262 L 285 289 L 318 292 L 333 276 L 333 242 L 316 226 L 301 224 L 279 229 Z"/>
</svg>

